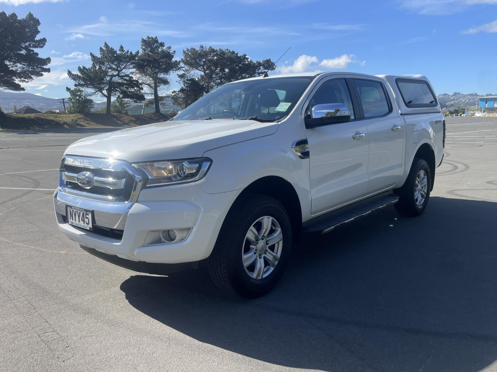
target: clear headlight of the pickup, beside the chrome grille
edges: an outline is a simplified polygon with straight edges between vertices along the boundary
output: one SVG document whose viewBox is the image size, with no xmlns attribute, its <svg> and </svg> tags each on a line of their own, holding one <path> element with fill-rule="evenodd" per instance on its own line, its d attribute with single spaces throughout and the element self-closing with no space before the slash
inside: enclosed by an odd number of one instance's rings
<svg viewBox="0 0 497 372">
<path fill-rule="evenodd" d="M 212 160 L 209 158 L 187 160 L 158 160 L 136 163 L 133 166 L 145 178 L 145 186 L 166 186 L 185 184 L 201 180 Z"/>
</svg>

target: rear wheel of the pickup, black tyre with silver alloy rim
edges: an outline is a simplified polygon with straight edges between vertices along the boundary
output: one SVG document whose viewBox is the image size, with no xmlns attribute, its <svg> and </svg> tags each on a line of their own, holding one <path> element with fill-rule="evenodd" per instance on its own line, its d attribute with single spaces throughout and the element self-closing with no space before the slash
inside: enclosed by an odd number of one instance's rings
<svg viewBox="0 0 497 372">
<path fill-rule="evenodd" d="M 428 204 L 430 188 L 430 167 L 424 159 L 415 158 L 406 182 L 397 189 L 400 200 L 394 205 L 395 209 L 403 216 L 419 216 Z"/>
</svg>

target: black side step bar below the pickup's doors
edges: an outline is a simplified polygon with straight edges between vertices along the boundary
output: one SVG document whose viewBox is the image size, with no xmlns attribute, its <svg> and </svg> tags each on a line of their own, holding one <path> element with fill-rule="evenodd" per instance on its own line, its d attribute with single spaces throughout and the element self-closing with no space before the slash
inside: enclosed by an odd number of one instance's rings
<svg viewBox="0 0 497 372">
<path fill-rule="evenodd" d="M 387 205 L 395 204 L 399 201 L 399 196 L 395 194 L 389 194 L 382 196 L 373 201 L 361 204 L 355 208 L 348 209 L 347 211 L 334 216 L 328 217 L 324 220 L 320 220 L 314 224 L 305 226 L 303 231 L 306 233 L 313 233 L 321 231 L 322 234 L 329 233 L 331 230 L 337 228 L 338 226 L 352 222 L 358 218 L 364 217 L 369 213 L 384 208 Z"/>
</svg>

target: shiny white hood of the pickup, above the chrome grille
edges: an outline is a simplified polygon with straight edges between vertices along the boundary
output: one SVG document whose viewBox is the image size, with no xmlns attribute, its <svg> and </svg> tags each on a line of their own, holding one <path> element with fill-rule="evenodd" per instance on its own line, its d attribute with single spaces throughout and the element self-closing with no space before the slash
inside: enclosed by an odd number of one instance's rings
<svg viewBox="0 0 497 372">
<path fill-rule="evenodd" d="M 86 137 L 64 154 L 128 162 L 197 158 L 216 147 L 273 134 L 277 128 L 277 123 L 253 120 L 163 122 Z"/>
</svg>

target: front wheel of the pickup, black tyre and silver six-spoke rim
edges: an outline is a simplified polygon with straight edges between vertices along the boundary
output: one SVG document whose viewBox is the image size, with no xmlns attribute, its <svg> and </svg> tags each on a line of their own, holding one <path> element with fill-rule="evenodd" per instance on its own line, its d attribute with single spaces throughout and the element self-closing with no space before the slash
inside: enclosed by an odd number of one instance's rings
<svg viewBox="0 0 497 372">
<path fill-rule="evenodd" d="M 252 194 L 228 212 L 207 267 L 219 288 L 253 298 L 276 285 L 291 247 L 292 228 L 283 205 L 270 196 Z"/>
</svg>

